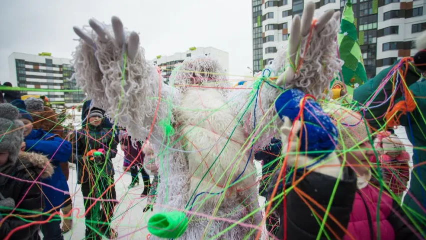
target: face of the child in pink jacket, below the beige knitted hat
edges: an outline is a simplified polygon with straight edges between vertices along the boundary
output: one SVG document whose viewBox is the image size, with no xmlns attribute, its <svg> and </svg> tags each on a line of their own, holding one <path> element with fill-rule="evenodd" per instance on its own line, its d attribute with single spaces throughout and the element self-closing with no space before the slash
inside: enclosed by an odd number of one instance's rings
<svg viewBox="0 0 426 240">
<path fill-rule="evenodd" d="M 374 155 L 373 147 L 370 141 L 365 141 L 354 147 L 351 151 L 345 153 L 347 162 L 354 170 L 363 174 L 370 169 L 369 159 Z"/>
</svg>

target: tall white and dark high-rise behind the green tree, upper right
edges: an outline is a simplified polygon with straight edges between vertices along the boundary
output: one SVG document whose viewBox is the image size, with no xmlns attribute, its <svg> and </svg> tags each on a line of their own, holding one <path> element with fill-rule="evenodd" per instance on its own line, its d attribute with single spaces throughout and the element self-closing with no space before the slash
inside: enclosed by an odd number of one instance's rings
<svg viewBox="0 0 426 240">
<path fill-rule="evenodd" d="M 343 10 L 347 0 L 313 0 L 316 12 Z M 289 38 L 293 16 L 307 0 L 253 0 L 253 70 L 259 71 Z M 414 40 L 426 29 L 426 0 L 352 0 L 368 77 L 416 53 Z"/>
</svg>

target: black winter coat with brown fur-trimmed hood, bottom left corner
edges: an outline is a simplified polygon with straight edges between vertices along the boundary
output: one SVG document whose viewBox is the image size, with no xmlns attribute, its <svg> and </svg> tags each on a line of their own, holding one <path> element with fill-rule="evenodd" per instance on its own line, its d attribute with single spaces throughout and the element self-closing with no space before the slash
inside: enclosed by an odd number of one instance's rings
<svg viewBox="0 0 426 240">
<path fill-rule="evenodd" d="M 44 171 L 43 171 L 44 169 Z M 40 177 L 37 181 L 41 181 L 43 178 L 50 177 L 53 173 L 53 167 L 45 156 L 30 153 L 20 152 L 16 164 L 10 166 L 4 172 L 7 175 L 13 177 L 33 181 L 39 174 Z M 40 221 L 41 215 L 44 208 L 43 195 L 41 191 L 41 185 L 32 184 L 30 182 L 24 182 L 15 180 L 3 175 L 0 175 L 0 192 L 4 198 L 12 198 L 17 205 L 13 211 L 13 215 L 10 215 L 12 209 L 0 209 L 1 216 L 3 219 L 0 226 L 0 239 L 5 239 L 6 236 L 15 228 L 25 225 L 28 222 Z M 29 212 L 28 212 L 29 211 Z M 23 215 L 24 220 L 15 217 L 14 215 Z M 34 217 L 25 217 L 25 215 L 36 215 Z M 38 230 L 40 224 L 32 224 L 24 227 L 18 231 L 15 231 L 9 239 L 13 240 L 24 240 L 24 239 L 40 239 L 38 236 Z"/>
</svg>

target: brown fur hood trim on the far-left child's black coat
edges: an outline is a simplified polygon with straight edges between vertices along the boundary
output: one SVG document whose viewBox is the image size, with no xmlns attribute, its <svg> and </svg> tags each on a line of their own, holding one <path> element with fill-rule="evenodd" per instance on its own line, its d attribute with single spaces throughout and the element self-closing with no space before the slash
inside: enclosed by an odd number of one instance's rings
<svg viewBox="0 0 426 240">
<path fill-rule="evenodd" d="M 43 173 L 41 173 L 41 178 L 52 176 L 54 171 L 52 164 L 46 156 L 34 152 L 20 151 L 18 154 L 16 170 L 19 171 L 29 167 L 32 167 L 37 174 L 42 171 Z"/>
</svg>

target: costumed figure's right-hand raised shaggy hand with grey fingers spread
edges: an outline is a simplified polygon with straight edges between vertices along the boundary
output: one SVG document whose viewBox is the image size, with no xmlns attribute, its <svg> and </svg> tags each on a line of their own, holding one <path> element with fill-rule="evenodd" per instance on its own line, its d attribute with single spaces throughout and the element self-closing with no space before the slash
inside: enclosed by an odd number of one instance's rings
<svg viewBox="0 0 426 240">
<path fill-rule="evenodd" d="M 330 9 L 313 21 L 314 11 L 315 3 L 308 2 L 302 19 L 293 18 L 285 71 L 278 77 L 277 84 L 298 87 L 318 97 L 342 66 L 335 40 L 340 12 Z"/>
</svg>

